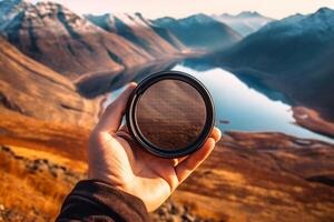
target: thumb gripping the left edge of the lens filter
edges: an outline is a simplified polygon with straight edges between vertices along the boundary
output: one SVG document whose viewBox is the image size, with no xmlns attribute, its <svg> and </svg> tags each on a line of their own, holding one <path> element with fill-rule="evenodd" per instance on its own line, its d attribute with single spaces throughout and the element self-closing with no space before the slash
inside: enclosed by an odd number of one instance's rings
<svg viewBox="0 0 334 222">
<path fill-rule="evenodd" d="M 129 83 L 125 91 L 106 108 L 97 125 L 99 131 L 116 132 L 118 130 L 121 118 L 125 114 L 129 97 L 136 87 L 137 83 Z"/>
</svg>

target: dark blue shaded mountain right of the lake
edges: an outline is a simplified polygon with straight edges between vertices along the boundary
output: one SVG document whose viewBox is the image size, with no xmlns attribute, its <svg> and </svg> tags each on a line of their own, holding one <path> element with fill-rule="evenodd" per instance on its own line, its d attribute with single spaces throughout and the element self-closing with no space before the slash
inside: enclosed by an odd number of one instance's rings
<svg viewBox="0 0 334 222">
<path fill-rule="evenodd" d="M 334 119 L 334 11 L 274 21 L 212 59 Z"/>
</svg>

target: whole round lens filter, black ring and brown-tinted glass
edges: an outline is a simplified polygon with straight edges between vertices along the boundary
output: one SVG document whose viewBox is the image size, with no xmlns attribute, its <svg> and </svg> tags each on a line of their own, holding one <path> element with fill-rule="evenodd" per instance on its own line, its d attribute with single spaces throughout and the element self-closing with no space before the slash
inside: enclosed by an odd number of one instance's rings
<svg viewBox="0 0 334 222">
<path fill-rule="evenodd" d="M 198 150 L 215 122 L 208 90 L 179 71 L 158 72 L 143 80 L 129 99 L 126 118 L 138 143 L 163 158 Z"/>
</svg>

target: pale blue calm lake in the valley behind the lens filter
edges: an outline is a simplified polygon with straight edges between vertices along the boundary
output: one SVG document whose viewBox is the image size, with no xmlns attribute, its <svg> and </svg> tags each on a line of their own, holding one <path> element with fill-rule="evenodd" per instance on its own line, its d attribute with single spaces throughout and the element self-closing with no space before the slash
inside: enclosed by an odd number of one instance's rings
<svg viewBox="0 0 334 222">
<path fill-rule="evenodd" d="M 279 92 L 258 90 L 258 85 L 249 85 L 233 73 L 220 68 L 198 69 L 187 63 L 178 63 L 173 70 L 184 71 L 199 79 L 210 91 L 216 108 L 216 125 L 222 131 L 252 132 L 284 132 L 298 138 L 312 138 L 334 143 L 333 139 L 314 133 L 294 124 L 291 107 L 284 103 L 284 95 Z M 145 74 L 134 75 L 132 80 L 140 80 Z M 130 79 L 130 78 L 129 78 Z M 256 90 L 255 90 L 256 89 Z M 110 100 L 115 99 L 121 89 L 114 91 Z M 277 100 L 281 98 L 281 100 Z"/>
</svg>

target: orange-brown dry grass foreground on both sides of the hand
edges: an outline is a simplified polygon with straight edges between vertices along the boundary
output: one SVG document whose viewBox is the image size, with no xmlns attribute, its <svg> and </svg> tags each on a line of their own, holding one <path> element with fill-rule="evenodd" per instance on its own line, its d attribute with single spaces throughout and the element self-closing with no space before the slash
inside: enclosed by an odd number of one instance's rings
<svg viewBox="0 0 334 222">
<path fill-rule="evenodd" d="M 84 179 L 89 130 L 10 111 L 0 121 L 0 221 L 50 221 Z M 334 145 L 228 132 L 154 221 L 334 221 Z"/>
</svg>

